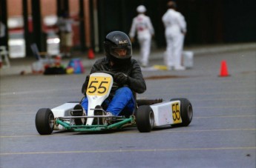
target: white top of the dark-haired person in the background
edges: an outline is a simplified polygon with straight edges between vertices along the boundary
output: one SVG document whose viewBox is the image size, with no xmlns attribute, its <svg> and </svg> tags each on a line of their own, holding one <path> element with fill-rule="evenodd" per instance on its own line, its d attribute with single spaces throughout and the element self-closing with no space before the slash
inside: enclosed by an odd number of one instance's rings
<svg viewBox="0 0 256 168">
<path fill-rule="evenodd" d="M 162 20 L 165 25 L 166 37 L 179 36 L 181 33 L 186 33 L 186 21 L 181 13 L 168 9 Z"/>
</svg>

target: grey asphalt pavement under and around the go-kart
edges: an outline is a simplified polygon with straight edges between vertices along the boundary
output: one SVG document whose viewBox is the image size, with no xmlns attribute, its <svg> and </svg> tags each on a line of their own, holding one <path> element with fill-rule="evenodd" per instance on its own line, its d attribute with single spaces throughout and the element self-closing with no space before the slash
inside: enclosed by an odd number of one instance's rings
<svg viewBox="0 0 256 168">
<path fill-rule="evenodd" d="M 131 127 L 39 135 L 39 108 L 79 101 L 85 74 L 35 75 L 32 58 L 11 60 L 11 67 L 1 69 L 0 167 L 255 168 L 255 49 L 255 43 L 186 47 L 194 52 L 191 69 L 142 70 L 147 90 L 137 98 L 188 98 L 194 112 L 188 127 L 167 125 L 146 133 Z M 163 64 L 163 52 L 153 50 L 151 64 Z M 88 73 L 95 59 L 79 58 Z M 226 77 L 219 76 L 223 60 Z"/>
</svg>

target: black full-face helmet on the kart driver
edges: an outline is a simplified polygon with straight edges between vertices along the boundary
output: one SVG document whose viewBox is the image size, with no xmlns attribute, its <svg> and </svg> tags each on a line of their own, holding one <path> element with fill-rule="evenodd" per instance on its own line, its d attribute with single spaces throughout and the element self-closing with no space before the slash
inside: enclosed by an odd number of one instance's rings
<svg viewBox="0 0 256 168">
<path fill-rule="evenodd" d="M 126 55 L 119 56 L 115 49 L 125 49 Z M 104 40 L 105 55 L 117 64 L 125 64 L 131 60 L 132 47 L 130 38 L 123 32 L 114 31 L 108 33 Z"/>
</svg>

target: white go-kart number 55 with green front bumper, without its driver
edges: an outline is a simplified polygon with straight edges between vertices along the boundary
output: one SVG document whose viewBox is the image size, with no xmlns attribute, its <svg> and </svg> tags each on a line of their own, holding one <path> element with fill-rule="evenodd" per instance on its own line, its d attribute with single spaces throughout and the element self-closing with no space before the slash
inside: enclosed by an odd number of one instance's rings
<svg viewBox="0 0 256 168">
<path fill-rule="evenodd" d="M 135 108 L 133 115 L 94 115 L 96 106 L 102 105 L 102 102 L 108 98 L 111 92 L 114 82 L 112 75 L 106 72 L 90 75 L 86 92 L 88 98 L 86 116 L 71 115 L 75 111 L 73 107 L 79 104 L 79 101 L 68 102 L 53 109 L 39 109 L 35 120 L 36 130 L 39 134 L 50 135 L 53 130 L 96 132 L 133 126 L 136 126 L 140 132 L 150 132 L 154 127 L 164 125 L 186 127 L 191 123 L 193 110 L 191 102 L 187 98 L 173 98 L 171 101 L 137 99 L 137 108 Z M 76 125 L 75 120 L 77 118 L 84 119 L 85 124 Z"/>
</svg>

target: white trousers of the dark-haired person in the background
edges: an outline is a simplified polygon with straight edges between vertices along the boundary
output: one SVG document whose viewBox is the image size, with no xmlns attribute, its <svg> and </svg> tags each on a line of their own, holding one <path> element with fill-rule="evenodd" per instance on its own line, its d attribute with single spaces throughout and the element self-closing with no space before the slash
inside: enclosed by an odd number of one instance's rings
<svg viewBox="0 0 256 168">
<path fill-rule="evenodd" d="M 167 67 L 182 66 L 182 52 L 183 52 L 184 36 L 166 37 L 166 53 L 164 56 L 164 63 Z"/>
</svg>

